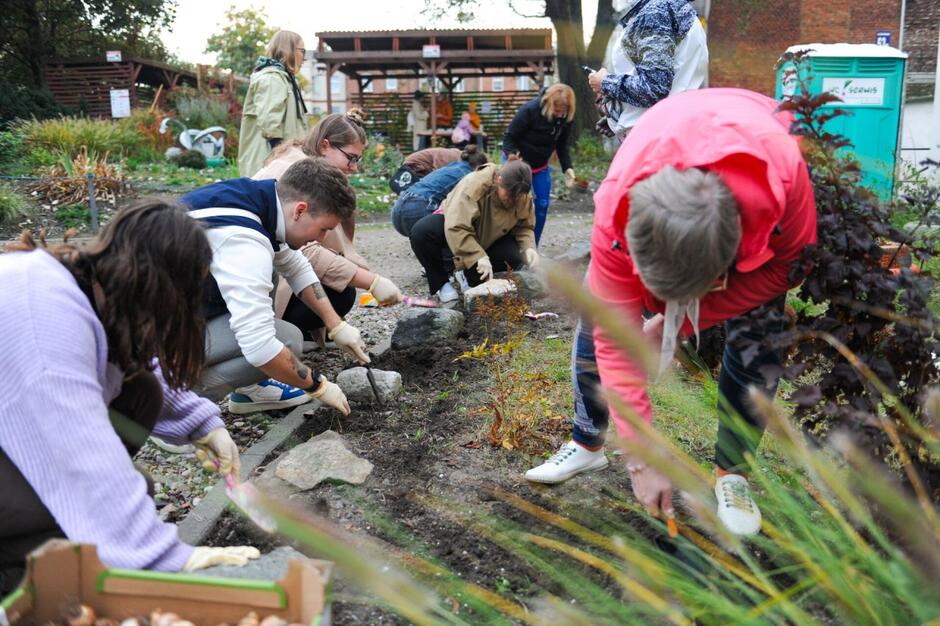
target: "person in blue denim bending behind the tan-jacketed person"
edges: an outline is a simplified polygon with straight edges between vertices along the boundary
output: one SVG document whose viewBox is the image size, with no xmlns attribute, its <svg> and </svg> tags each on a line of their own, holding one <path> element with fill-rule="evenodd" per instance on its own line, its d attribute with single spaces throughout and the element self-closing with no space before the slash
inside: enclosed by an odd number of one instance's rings
<svg viewBox="0 0 940 626">
<path fill-rule="evenodd" d="M 392 205 L 392 226 L 399 234 L 410 236 L 415 224 L 434 213 L 457 183 L 487 160 L 477 146 L 467 146 L 458 160 L 434 170 L 398 196 Z"/>
</svg>

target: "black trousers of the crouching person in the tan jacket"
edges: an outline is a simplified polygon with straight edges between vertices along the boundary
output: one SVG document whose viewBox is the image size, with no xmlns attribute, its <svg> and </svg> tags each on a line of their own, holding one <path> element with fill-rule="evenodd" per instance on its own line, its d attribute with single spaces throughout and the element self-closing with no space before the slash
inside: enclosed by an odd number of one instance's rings
<svg viewBox="0 0 940 626">
<path fill-rule="evenodd" d="M 454 271 L 453 258 L 449 254 L 447 239 L 444 236 L 443 215 L 428 215 L 414 225 L 411 229 L 411 249 L 424 266 L 424 272 L 428 278 L 428 289 L 433 296 L 440 291 L 450 273 Z M 493 272 L 517 270 L 523 265 L 519 242 L 512 235 L 506 235 L 494 241 L 493 245 L 486 249 L 486 256 L 493 264 Z M 464 276 L 471 287 L 482 282 L 476 264 L 465 269 Z"/>
</svg>

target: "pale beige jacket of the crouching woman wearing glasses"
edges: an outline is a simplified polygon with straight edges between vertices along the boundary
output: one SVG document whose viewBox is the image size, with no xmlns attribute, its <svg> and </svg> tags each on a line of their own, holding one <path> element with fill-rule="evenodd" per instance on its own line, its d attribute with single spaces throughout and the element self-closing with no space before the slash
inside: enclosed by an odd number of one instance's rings
<svg viewBox="0 0 940 626">
<path fill-rule="evenodd" d="M 252 178 L 255 180 L 280 178 L 288 167 L 305 158 L 307 155 L 303 150 L 292 147 L 261 168 Z M 342 224 L 327 233 L 322 243 L 311 241 L 300 251 L 310 261 L 320 282 L 336 291 L 345 290 L 359 268 L 369 269 L 366 260 L 356 252 L 352 241 L 346 236 Z M 277 317 L 283 317 L 290 296 L 291 290 L 287 281 L 279 281 L 274 295 L 274 311 Z"/>
</svg>

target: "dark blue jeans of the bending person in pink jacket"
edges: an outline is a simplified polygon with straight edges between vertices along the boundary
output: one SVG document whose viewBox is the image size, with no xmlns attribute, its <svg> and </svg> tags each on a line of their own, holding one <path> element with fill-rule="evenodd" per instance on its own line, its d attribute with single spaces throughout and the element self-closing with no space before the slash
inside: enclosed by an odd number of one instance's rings
<svg viewBox="0 0 940 626">
<path fill-rule="evenodd" d="M 783 297 L 764 306 L 783 310 Z M 741 316 L 726 322 L 728 337 L 747 323 Z M 762 341 L 767 335 L 783 330 L 784 322 L 765 324 L 758 332 L 740 333 L 742 338 Z M 764 424 L 747 401 L 748 387 L 761 388 L 768 396 L 777 392 L 777 381 L 769 383 L 760 373 L 765 365 L 780 365 L 782 351 L 762 343 L 757 354 L 744 365 L 743 346 L 735 341 L 725 342 L 721 360 L 721 375 L 718 378 L 718 439 L 715 444 L 715 463 L 729 471 L 740 471 L 745 467 L 744 453 L 754 455 L 764 433 Z M 607 403 L 601 400 L 600 376 L 594 353 L 593 328 L 582 318 L 575 331 L 571 351 L 571 374 L 574 386 L 574 427 L 571 438 L 577 443 L 597 448 L 604 444 L 610 414 Z"/>
</svg>

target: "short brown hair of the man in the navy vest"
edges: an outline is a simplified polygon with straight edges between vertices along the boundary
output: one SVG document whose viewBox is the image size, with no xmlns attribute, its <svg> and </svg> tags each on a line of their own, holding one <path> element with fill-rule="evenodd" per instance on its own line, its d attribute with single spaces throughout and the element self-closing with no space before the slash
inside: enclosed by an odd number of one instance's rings
<svg viewBox="0 0 940 626">
<path fill-rule="evenodd" d="M 349 219 L 356 210 L 356 193 L 346 175 L 325 159 L 301 159 L 277 181 L 281 202 L 306 202 L 312 215 Z"/>
</svg>

